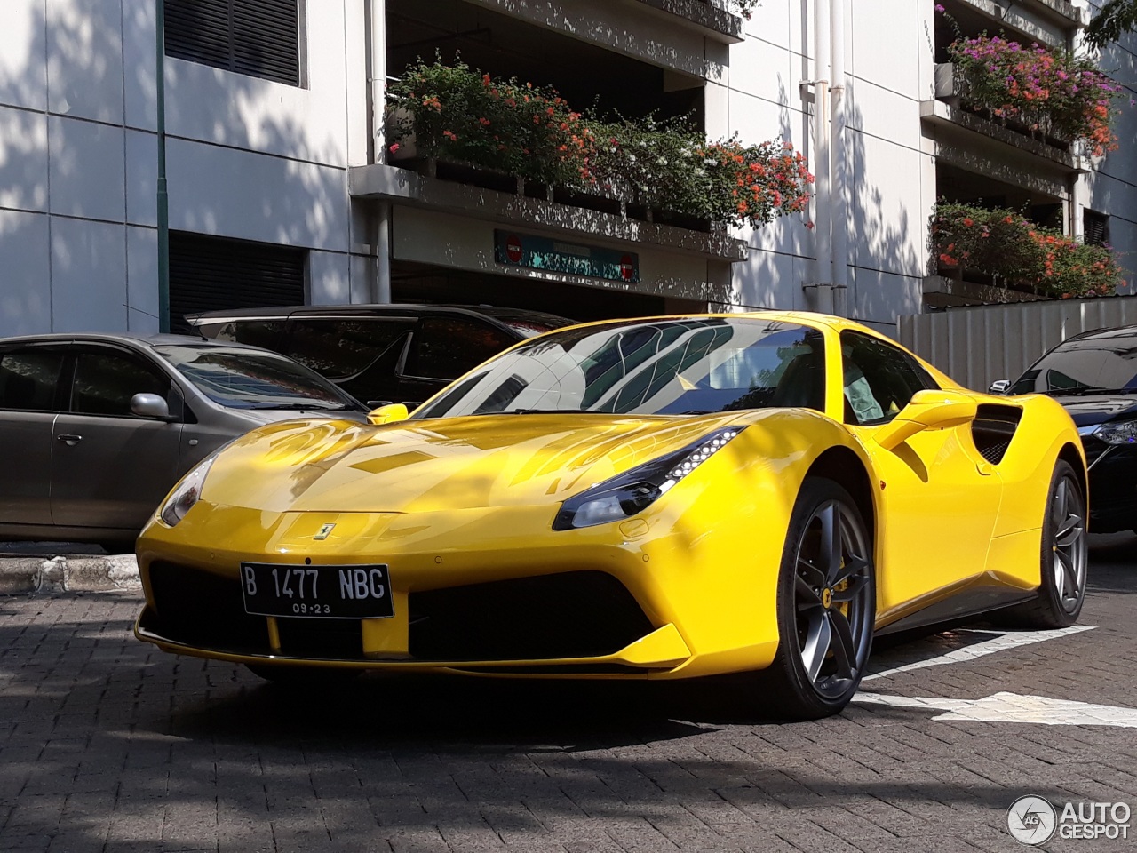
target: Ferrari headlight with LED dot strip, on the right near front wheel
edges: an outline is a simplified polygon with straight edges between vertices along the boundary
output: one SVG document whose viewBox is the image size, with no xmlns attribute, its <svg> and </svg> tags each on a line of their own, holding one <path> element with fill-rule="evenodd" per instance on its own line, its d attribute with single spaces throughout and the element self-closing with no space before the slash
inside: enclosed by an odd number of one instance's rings
<svg viewBox="0 0 1137 853">
<path fill-rule="evenodd" d="M 561 505 L 553 529 L 589 528 L 642 512 L 744 429 L 728 426 L 715 430 L 682 450 L 646 462 L 574 495 Z"/>
</svg>

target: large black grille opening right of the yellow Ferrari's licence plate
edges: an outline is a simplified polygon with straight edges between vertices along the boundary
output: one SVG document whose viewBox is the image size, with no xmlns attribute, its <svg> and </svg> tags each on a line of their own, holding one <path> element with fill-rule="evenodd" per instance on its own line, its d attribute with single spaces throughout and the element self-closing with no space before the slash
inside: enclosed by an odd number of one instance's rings
<svg viewBox="0 0 1137 853">
<path fill-rule="evenodd" d="M 409 598 L 410 654 L 424 661 L 598 657 L 653 629 L 606 572 L 472 583 Z"/>
</svg>

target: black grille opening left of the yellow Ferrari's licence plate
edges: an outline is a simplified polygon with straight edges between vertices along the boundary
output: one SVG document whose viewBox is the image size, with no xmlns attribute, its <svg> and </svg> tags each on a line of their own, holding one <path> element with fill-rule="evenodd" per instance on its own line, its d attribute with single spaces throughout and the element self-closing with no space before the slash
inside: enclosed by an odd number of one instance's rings
<svg viewBox="0 0 1137 853">
<path fill-rule="evenodd" d="M 175 563 L 150 564 L 156 622 L 153 630 L 186 646 L 268 654 L 264 616 L 244 612 L 235 578 Z"/>
</svg>

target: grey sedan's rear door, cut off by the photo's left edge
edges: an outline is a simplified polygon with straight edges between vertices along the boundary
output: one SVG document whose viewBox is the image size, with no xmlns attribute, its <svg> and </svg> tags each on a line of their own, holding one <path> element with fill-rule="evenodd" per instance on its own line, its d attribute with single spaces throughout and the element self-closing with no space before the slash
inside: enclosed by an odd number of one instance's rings
<svg viewBox="0 0 1137 853">
<path fill-rule="evenodd" d="M 51 523 L 51 434 L 65 358 L 50 345 L 0 351 L 0 529 Z"/>
</svg>

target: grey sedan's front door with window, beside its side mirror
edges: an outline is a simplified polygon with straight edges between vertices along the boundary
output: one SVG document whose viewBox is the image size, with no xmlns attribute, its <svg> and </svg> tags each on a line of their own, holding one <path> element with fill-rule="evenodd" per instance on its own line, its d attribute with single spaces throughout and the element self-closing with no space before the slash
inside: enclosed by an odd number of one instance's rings
<svg viewBox="0 0 1137 853">
<path fill-rule="evenodd" d="M 171 379 L 115 346 L 80 345 L 73 358 L 69 405 L 53 430 L 51 519 L 141 530 L 176 479 L 182 424 L 135 415 L 131 398 L 157 394 L 168 403 Z"/>
</svg>

